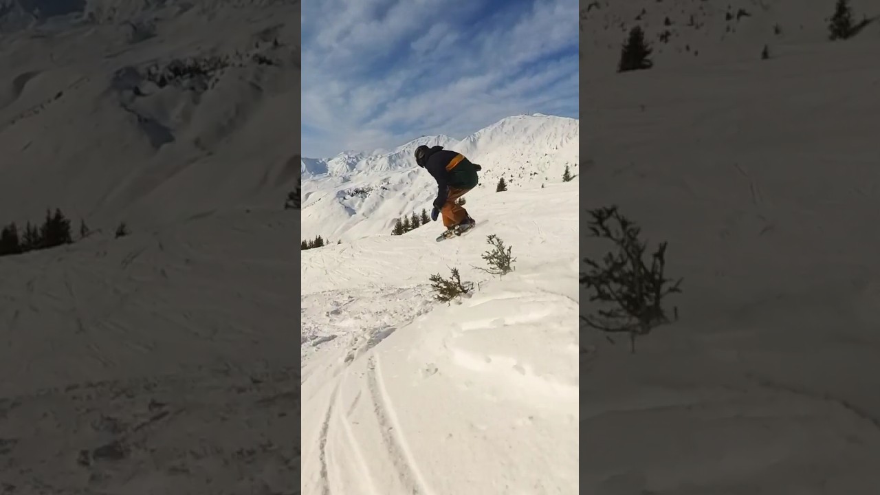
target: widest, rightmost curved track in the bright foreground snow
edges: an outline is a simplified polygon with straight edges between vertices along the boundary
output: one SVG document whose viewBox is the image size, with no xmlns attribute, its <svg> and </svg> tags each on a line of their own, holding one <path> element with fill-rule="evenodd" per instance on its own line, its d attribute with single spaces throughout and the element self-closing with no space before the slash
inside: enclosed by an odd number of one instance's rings
<svg viewBox="0 0 880 495">
<path fill-rule="evenodd" d="M 367 361 L 367 387 L 382 440 L 388 447 L 388 454 L 391 455 L 391 461 L 397 469 L 400 483 L 407 490 L 407 494 L 430 495 L 431 492 L 423 481 L 422 473 L 419 472 L 413 456 L 409 453 L 406 440 L 400 434 L 400 424 L 382 385 L 382 371 L 375 354 Z"/>
</svg>

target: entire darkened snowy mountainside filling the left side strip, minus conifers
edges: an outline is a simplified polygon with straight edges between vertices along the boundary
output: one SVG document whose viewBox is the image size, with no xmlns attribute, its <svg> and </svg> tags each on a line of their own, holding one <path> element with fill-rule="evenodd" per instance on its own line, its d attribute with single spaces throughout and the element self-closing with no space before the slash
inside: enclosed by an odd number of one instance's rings
<svg viewBox="0 0 880 495">
<path fill-rule="evenodd" d="M 94 232 L 0 257 L 0 491 L 297 491 L 299 28 L 286 1 L 0 0 L 0 225 Z"/>
</svg>

